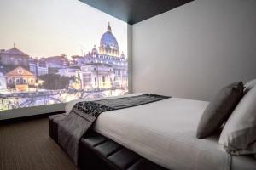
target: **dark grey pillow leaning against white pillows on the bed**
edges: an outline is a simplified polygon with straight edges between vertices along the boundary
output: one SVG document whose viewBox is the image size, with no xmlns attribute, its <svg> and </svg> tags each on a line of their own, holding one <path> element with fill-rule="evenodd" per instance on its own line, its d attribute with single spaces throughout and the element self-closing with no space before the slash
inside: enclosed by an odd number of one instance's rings
<svg viewBox="0 0 256 170">
<path fill-rule="evenodd" d="M 201 116 L 196 136 L 207 138 L 229 118 L 243 95 L 243 83 L 235 82 L 222 88 Z"/>
</svg>

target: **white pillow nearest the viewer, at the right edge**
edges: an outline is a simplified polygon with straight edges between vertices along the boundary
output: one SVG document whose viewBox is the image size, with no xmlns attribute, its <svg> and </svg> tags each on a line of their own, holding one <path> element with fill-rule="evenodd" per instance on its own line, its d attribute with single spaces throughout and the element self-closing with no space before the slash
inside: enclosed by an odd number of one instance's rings
<svg viewBox="0 0 256 170">
<path fill-rule="evenodd" d="M 218 142 L 232 155 L 256 154 L 256 86 L 236 106 Z"/>
</svg>

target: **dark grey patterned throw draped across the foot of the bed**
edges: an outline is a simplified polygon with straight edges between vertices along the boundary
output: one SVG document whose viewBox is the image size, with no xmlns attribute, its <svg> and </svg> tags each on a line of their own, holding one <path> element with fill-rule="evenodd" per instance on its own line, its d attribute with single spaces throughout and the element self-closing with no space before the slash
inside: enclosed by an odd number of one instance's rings
<svg viewBox="0 0 256 170">
<path fill-rule="evenodd" d="M 64 120 L 58 122 L 58 143 L 77 164 L 79 140 L 102 112 L 144 105 L 167 98 L 169 97 L 142 94 L 116 99 L 79 102 L 73 106 L 72 111 Z"/>
</svg>

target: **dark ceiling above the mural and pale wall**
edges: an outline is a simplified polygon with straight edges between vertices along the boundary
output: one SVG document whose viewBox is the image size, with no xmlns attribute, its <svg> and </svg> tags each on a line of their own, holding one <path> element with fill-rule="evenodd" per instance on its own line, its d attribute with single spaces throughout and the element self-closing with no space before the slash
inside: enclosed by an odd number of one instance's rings
<svg viewBox="0 0 256 170">
<path fill-rule="evenodd" d="M 107 14 L 136 24 L 154 15 L 177 8 L 193 0 L 80 0 L 83 3 L 98 8 Z"/>
</svg>

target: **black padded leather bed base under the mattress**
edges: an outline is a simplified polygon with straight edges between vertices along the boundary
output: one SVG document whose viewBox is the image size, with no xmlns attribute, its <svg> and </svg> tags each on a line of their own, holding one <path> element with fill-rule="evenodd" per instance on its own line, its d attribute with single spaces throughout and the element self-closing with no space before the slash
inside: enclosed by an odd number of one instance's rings
<svg viewBox="0 0 256 170">
<path fill-rule="evenodd" d="M 49 136 L 57 144 L 56 120 L 63 118 L 62 114 L 49 116 Z M 82 170 L 166 170 L 92 129 L 80 140 L 78 167 Z"/>
</svg>

